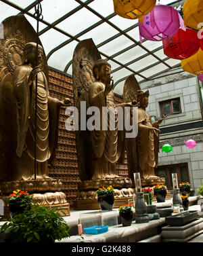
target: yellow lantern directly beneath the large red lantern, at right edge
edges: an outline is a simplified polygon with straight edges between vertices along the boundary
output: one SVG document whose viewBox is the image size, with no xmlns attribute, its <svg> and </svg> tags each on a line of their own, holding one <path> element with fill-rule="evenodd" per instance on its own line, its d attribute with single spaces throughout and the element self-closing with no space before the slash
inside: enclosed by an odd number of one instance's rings
<svg viewBox="0 0 203 256">
<path fill-rule="evenodd" d="M 194 75 L 200 75 L 203 73 L 203 51 L 198 50 L 196 54 L 189 58 L 181 60 L 181 65 L 184 71 Z"/>
</svg>

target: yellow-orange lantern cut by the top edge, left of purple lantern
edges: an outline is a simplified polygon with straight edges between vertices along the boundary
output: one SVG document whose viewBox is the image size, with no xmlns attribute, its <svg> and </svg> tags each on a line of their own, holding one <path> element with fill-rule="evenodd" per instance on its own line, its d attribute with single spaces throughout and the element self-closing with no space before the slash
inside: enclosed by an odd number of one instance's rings
<svg viewBox="0 0 203 256">
<path fill-rule="evenodd" d="M 137 19 L 152 11 L 156 0 L 114 0 L 114 12 L 123 18 Z"/>
</svg>

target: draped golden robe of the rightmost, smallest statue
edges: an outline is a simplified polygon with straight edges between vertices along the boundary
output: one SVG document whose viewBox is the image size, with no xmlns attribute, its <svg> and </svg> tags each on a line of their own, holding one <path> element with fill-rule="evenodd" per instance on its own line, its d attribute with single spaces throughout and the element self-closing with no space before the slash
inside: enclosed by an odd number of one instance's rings
<svg viewBox="0 0 203 256">
<path fill-rule="evenodd" d="M 158 164 L 159 139 L 152 129 L 158 128 L 158 122 L 151 123 L 150 115 L 142 108 L 138 109 L 137 159 L 141 178 L 154 176 L 154 168 Z"/>
</svg>

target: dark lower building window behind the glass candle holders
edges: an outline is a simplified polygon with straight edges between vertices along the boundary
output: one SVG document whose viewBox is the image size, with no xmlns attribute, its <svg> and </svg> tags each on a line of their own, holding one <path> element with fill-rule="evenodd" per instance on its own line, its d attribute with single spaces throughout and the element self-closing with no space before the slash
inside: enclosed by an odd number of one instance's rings
<svg viewBox="0 0 203 256">
<path fill-rule="evenodd" d="M 177 179 L 179 183 L 189 182 L 187 163 L 158 166 L 154 169 L 154 173 L 158 177 L 165 178 L 166 186 L 169 190 L 173 189 L 172 173 L 177 173 Z"/>
</svg>

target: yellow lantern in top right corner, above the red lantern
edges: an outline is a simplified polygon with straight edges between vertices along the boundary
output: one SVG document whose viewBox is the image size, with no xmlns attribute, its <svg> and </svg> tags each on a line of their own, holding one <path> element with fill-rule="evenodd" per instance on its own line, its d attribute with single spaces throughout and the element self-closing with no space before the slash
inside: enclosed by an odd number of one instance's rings
<svg viewBox="0 0 203 256">
<path fill-rule="evenodd" d="M 200 23 L 203 22 L 203 1 L 186 0 L 183 5 L 183 18 L 186 26 L 192 29 L 201 29 L 202 25 Z"/>
</svg>

